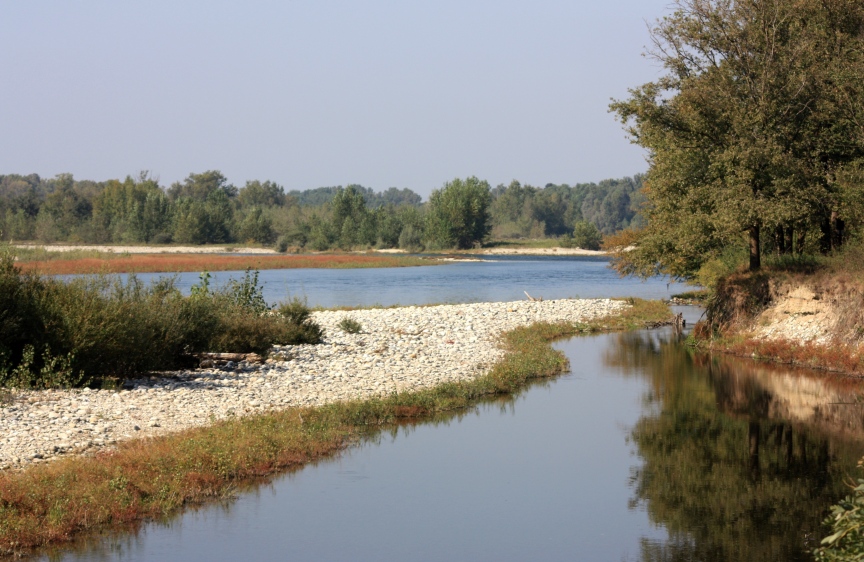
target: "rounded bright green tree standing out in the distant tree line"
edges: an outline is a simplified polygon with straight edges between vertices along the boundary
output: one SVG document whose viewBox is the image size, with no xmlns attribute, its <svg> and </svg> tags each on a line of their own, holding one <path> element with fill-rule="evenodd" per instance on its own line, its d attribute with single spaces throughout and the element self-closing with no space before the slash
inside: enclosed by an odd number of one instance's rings
<svg viewBox="0 0 864 562">
<path fill-rule="evenodd" d="M 489 183 L 456 178 L 429 197 L 426 234 L 439 248 L 471 248 L 491 230 Z"/>
</svg>

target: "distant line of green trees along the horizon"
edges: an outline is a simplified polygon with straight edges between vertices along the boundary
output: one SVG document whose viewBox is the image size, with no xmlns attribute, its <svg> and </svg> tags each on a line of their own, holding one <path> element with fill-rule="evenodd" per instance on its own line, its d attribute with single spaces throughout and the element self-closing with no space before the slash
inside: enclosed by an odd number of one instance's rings
<svg viewBox="0 0 864 562">
<path fill-rule="evenodd" d="M 470 248 L 496 239 L 562 238 L 599 246 L 603 234 L 638 226 L 641 177 L 598 184 L 517 181 L 494 189 L 454 179 L 424 203 L 410 189 L 361 185 L 289 191 L 271 181 L 228 182 L 193 173 L 167 189 L 147 173 L 124 180 L 71 174 L 0 175 L 0 237 L 72 243 L 276 245 L 282 251 Z"/>
</svg>

